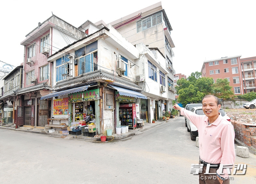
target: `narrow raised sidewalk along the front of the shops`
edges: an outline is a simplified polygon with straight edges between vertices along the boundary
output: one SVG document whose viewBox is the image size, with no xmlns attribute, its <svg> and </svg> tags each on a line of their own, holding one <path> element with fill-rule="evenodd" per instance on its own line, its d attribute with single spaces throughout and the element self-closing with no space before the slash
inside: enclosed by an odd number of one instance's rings
<svg viewBox="0 0 256 184">
<path fill-rule="evenodd" d="M 129 129 L 128 133 L 125 134 L 112 134 L 112 136 L 114 137 L 114 140 L 120 140 L 120 139 L 125 139 L 127 137 L 133 136 L 133 135 L 138 135 L 138 134 L 142 134 L 142 132 L 149 130 L 151 128 L 160 126 L 164 123 L 168 123 L 168 122 L 172 122 L 173 120 L 175 120 L 177 118 L 177 116 L 174 119 L 169 119 L 167 121 L 163 121 L 163 120 L 157 120 L 155 121 L 155 123 L 146 123 L 143 126 L 143 129 L 137 128 L 135 130 Z M 42 132 L 39 130 L 25 130 L 25 129 L 15 129 L 15 128 L 10 128 L 10 127 L 3 127 L 0 126 L 0 129 L 4 129 L 4 130 L 13 130 L 13 131 L 18 131 L 18 132 L 26 132 L 26 133 L 33 133 L 33 134 L 43 134 L 43 135 L 48 135 L 48 136 L 54 136 L 54 137 L 66 137 L 69 136 L 70 138 L 75 138 L 75 139 L 79 139 L 79 140 L 88 140 L 88 141 L 100 141 L 99 137 L 86 137 L 83 135 L 63 135 L 63 134 L 55 134 L 55 133 L 48 133 L 48 132 Z M 28 128 L 29 129 L 29 128 Z M 71 137 L 72 136 L 72 137 Z M 111 140 L 112 137 L 107 138 L 107 141 Z M 107 142 L 106 141 L 106 142 Z"/>
</svg>

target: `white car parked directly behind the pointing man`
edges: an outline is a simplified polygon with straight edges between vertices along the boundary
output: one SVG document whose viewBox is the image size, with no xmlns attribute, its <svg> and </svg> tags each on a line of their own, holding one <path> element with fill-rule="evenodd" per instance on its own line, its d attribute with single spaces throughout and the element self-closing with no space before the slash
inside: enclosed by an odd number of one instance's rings
<svg viewBox="0 0 256 184">
<path fill-rule="evenodd" d="M 203 112 L 202 106 L 193 107 L 191 109 L 191 111 L 198 115 L 205 115 Z M 231 122 L 230 118 L 226 115 L 226 112 L 222 108 L 220 108 L 219 112 L 223 119 Z M 196 126 L 189 119 L 187 119 L 187 130 L 188 130 L 188 132 L 190 132 L 191 140 L 194 141 L 196 139 L 196 137 L 198 136 L 198 130 L 197 130 Z"/>
</svg>

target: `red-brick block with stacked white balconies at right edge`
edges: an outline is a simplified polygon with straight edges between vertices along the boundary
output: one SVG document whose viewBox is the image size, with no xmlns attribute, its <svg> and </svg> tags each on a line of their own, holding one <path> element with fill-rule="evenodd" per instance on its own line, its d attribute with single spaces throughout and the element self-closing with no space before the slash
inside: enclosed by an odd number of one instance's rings
<svg viewBox="0 0 256 184">
<path fill-rule="evenodd" d="M 242 58 L 240 59 L 240 61 L 241 61 L 244 93 L 256 92 L 255 90 L 256 57 Z"/>
</svg>

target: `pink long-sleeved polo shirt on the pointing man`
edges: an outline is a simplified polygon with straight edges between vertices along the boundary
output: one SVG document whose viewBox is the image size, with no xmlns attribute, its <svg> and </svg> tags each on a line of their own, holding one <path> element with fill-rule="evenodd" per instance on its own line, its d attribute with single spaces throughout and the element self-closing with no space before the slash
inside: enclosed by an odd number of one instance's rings
<svg viewBox="0 0 256 184">
<path fill-rule="evenodd" d="M 187 117 L 198 129 L 199 138 L 199 155 L 201 160 L 207 163 L 235 163 L 235 131 L 234 127 L 228 120 L 219 117 L 208 125 L 208 117 L 206 115 L 197 115 L 184 108 L 181 109 L 180 114 Z M 232 166 L 233 167 L 233 166 Z M 232 170 L 230 168 L 230 171 Z M 218 174 L 219 169 L 217 170 Z M 228 177 L 227 170 L 222 170 L 224 175 Z"/>
</svg>

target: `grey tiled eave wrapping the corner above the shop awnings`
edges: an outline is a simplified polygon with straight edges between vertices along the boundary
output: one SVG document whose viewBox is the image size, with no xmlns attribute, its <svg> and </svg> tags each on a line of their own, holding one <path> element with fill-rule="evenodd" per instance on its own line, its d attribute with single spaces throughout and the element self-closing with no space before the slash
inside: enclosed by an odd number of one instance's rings
<svg viewBox="0 0 256 184">
<path fill-rule="evenodd" d="M 134 90 L 141 90 L 141 87 L 138 86 L 137 84 L 135 84 L 134 82 L 116 76 L 112 73 L 109 73 L 107 71 L 104 70 L 96 70 L 87 74 L 83 74 L 81 76 L 77 76 L 71 79 L 66 79 L 64 81 L 61 81 L 59 83 L 57 83 L 53 88 L 51 88 L 50 90 L 53 91 L 61 91 L 70 87 L 74 87 L 74 86 L 79 86 L 83 83 L 85 84 L 89 84 L 92 82 L 109 82 L 112 84 L 117 84 L 120 86 L 126 86 L 130 89 L 134 89 Z"/>
</svg>

